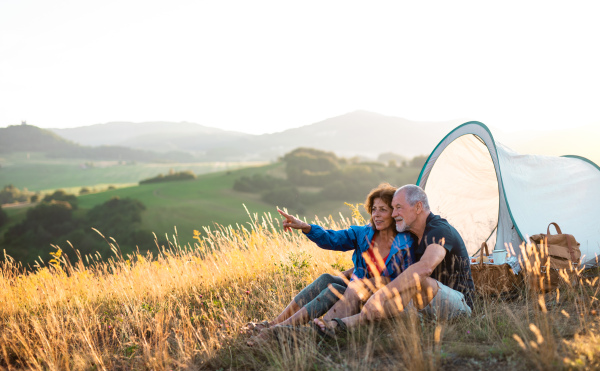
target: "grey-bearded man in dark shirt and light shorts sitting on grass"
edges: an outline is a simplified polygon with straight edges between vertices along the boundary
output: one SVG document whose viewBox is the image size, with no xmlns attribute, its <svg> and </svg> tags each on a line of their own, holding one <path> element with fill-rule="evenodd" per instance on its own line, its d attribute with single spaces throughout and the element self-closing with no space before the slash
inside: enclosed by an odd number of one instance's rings
<svg viewBox="0 0 600 371">
<path fill-rule="evenodd" d="M 465 244 L 445 219 L 429 209 L 425 192 L 416 185 L 399 188 L 392 199 L 392 217 L 399 232 L 415 235 L 414 261 L 402 274 L 377 291 L 360 313 L 348 316 L 360 293 L 351 286 L 315 323 L 325 332 L 345 330 L 369 321 L 389 318 L 414 306 L 435 317 L 471 315 L 473 278 Z M 344 317 L 344 318 L 340 318 Z"/>
</svg>

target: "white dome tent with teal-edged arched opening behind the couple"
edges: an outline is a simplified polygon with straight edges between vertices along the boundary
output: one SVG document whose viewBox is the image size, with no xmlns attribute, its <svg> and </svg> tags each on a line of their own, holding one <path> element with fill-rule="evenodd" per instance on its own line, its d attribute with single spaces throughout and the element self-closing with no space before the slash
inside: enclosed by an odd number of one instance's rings
<svg viewBox="0 0 600 371">
<path fill-rule="evenodd" d="M 556 222 L 581 243 L 582 264 L 598 264 L 600 168 L 588 159 L 521 155 L 471 121 L 435 147 L 417 185 L 432 212 L 459 231 L 470 255 L 484 241 L 494 251 L 512 245 L 518 253 L 529 236 Z"/>
</svg>

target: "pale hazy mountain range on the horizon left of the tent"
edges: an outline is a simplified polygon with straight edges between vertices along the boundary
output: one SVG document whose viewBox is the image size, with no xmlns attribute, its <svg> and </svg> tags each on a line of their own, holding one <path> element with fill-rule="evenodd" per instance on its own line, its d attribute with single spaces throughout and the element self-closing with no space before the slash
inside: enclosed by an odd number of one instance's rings
<svg viewBox="0 0 600 371">
<path fill-rule="evenodd" d="M 341 156 L 376 158 L 384 152 L 415 156 L 430 152 L 438 138 L 458 124 L 458 121 L 414 122 L 355 111 L 300 128 L 263 135 L 174 122 L 113 122 L 51 130 L 82 144 L 118 144 L 154 151 L 178 150 L 193 153 L 199 160 L 237 161 L 274 160 L 302 146 L 333 151 Z"/>
</svg>

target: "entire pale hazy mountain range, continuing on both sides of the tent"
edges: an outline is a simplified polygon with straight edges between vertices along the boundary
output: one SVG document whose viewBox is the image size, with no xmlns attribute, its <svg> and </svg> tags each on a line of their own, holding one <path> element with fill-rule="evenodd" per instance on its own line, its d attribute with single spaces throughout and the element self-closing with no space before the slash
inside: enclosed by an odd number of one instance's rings
<svg viewBox="0 0 600 371">
<path fill-rule="evenodd" d="M 52 129 L 81 144 L 120 145 L 147 151 L 185 151 L 198 161 L 275 160 L 298 147 L 332 151 L 344 157 L 377 158 L 393 152 L 428 155 L 463 120 L 416 122 L 354 111 L 279 133 L 251 135 L 189 122 L 112 122 Z M 600 125 L 551 132 L 505 133 L 490 128 L 503 143 L 523 154 L 577 154 L 600 163 Z"/>
</svg>

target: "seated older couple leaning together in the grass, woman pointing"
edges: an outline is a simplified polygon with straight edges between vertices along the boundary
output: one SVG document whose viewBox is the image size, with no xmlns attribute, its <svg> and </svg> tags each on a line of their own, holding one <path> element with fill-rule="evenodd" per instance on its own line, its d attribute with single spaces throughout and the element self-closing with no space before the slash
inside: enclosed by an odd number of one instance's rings
<svg viewBox="0 0 600 371">
<path fill-rule="evenodd" d="M 474 291 L 469 255 L 459 233 L 433 214 L 416 185 L 373 189 L 364 203 L 366 226 L 325 230 L 278 210 L 284 230 L 299 229 L 319 247 L 354 250 L 354 267 L 344 277 L 321 275 L 272 321 L 249 323 L 258 332 L 248 345 L 273 329 L 314 321 L 322 334 L 391 318 L 413 308 L 435 318 L 471 314 Z M 322 316 L 322 318 L 321 318 Z"/>
</svg>

